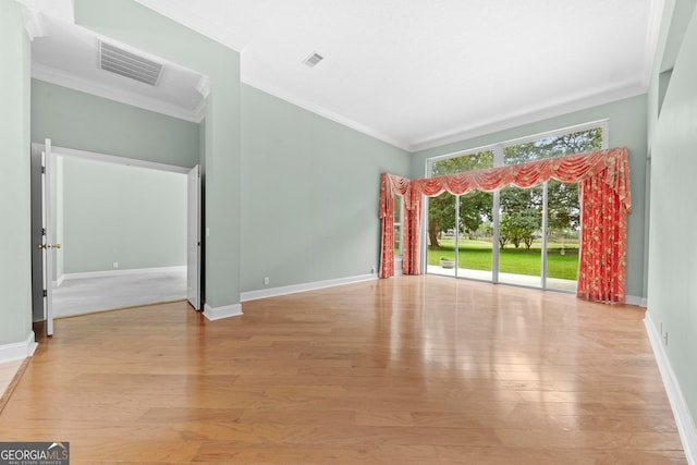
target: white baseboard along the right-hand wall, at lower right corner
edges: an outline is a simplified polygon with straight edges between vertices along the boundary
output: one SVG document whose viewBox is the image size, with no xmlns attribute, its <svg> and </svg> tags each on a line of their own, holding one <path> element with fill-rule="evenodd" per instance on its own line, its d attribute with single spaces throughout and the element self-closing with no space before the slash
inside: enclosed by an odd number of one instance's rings
<svg viewBox="0 0 697 465">
<path fill-rule="evenodd" d="M 683 442 L 687 463 L 690 465 L 697 465 L 697 428 L 695 427 L 695 419 L 689 413 L 687 402 L 685 401 L 683 391 L 680 388 L 680 383 L 677 382 L 671 362 L 668 358 L 668 353 L 663 345 L 663 339 L 656 329 L 656 326 L 653 326 L 648 314 L 644 317 L 644 325 L 646 325 L 646 331 L 649 334 L 649 341 L 653 348 L 656 363 L 658 364 L 658 368 L 661 372 L 665 393 L 668 394 L 671 408 L 673 409 L 675 425 L 680 432 L 680 439 Z"/>
</svg>

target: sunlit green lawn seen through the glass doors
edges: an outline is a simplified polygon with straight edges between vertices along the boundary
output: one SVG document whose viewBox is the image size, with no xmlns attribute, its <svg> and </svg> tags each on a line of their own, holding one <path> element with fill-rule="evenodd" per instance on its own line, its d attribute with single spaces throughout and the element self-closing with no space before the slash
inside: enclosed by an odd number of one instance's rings
<svg viewBox="0 0 697 465">
<path fill-rule="evenodd" d="M 460 240 L 458 267 L 470 270 L 491 271 L 491 243 L 486 241 Z M 578 244 L 565 244 L 564 255 L 561 244 L 548 243 L 547 276 L 576 280 L 578 272 Z M 500 253 L 500 271 L 504 273 L 539 276 L 541 244 L 534 243 L 527 249 L 524 245 L 515 248 L 509 245 Z M 429 247 L 428 265 L 440 265 L 441 257 L 455 259 L 455 242 L 452 238 L 440 241 L 440 249 Z"/>
</svg>

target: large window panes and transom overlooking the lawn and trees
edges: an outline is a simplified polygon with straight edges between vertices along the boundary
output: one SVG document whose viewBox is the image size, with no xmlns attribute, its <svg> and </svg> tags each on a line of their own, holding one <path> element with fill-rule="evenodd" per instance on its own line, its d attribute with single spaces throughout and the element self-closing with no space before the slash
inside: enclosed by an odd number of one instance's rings
<svg viewBox="0 0 697 465">
<path fill-rule="evenodd" d="M 608 122 L 509 140 L 428 160 L 430 176 L 606 148 Z M 574 291 L 578 271 L 578 185 L 549 181 L 496 193 L 444 193 L 428 200 L 427 272 Z M 453 268 L 441 259 L 454 261 Z M 451 265 L 452 266 L 452 265 Z"/>
</svg>

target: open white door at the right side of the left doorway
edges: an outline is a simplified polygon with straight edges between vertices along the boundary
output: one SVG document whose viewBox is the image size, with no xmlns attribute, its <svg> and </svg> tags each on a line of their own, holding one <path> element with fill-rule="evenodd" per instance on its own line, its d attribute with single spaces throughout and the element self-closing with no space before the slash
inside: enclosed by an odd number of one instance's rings
<svg viewBox="0 0 697 465">
<path fill-rule="evenodd" d="M 200 310 L 200 168 L 186 175 L 186 298 Z"/>
</svg>

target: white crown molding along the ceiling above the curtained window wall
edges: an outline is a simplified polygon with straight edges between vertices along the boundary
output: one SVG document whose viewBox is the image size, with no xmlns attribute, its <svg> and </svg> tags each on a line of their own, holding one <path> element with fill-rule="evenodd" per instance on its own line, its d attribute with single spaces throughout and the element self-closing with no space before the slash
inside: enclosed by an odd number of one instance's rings
<svg viewBox="0 0 697 465">
<path fill-rule="evenodd" d="M 408 150 L 416 152 L 441 147 L 448 144 L 454 144 L 499 131 L 536 123 L 550 118 L 561 117 L 575 111 L 587 110 L 592 107 L 611 103 L 625 98 L 636 97 L 637 95 L 646 94 L 648 86 L 637 82 L 614 88 L 608 88 L 598 93 L 591 93 L 589 95 L 575 96 L 566 101 L 550 102 L 549 105 L 540 106 L 537 109 L 531 109 L 530 111 L 522 114 L 504 114 L 501 115 L 501 118 L 491 119 L 477 126 L 468 126 L 448 134 L 441 134 L 432 138 L 423 139 L 412 144 Z"/>
</svg>

